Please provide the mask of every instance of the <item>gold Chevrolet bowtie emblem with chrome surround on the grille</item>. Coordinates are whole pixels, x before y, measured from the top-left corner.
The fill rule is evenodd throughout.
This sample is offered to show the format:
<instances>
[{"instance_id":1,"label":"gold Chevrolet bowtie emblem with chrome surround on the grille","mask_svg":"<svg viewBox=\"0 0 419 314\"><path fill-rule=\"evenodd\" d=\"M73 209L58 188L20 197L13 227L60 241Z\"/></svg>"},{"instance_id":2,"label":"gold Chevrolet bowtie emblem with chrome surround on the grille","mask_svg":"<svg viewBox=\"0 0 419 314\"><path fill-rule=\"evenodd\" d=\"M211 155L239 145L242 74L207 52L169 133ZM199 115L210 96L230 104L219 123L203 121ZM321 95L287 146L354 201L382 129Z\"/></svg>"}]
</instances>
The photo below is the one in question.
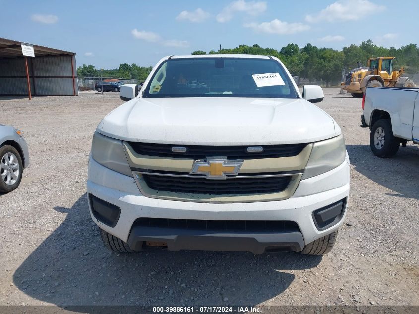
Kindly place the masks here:
<instances>
[{"instance_id":1,"label":"gold Chevrolet bowtie emblem with chrome surround on the grille","mask_svg":"<svg viewBox=\"0 0 419 314\"><path fill-rule=\"evenodd\" d=\"M207 160L195 160L193 162L191 174L206 175L207 179L226 179L226 175L237 175L242 160L227 160L217 158L207 158Z\"/></svg>"}]
</instances>

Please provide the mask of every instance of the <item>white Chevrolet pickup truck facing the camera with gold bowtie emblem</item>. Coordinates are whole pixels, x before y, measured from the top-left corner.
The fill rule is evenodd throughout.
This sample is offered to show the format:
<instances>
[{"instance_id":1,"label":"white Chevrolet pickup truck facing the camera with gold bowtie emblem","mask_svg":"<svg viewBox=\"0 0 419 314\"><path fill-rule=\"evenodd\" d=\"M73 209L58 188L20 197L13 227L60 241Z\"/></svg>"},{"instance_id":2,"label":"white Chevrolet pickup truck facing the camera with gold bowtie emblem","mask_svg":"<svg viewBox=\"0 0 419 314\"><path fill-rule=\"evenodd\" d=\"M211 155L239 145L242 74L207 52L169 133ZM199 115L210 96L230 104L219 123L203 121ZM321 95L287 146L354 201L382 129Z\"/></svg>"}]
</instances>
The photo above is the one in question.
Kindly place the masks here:
<instances>
[{"instance_id":1,"label":"white Chevrolet pickup truck facing the camera with gold bowtie emblem","mask_svg":"<svg viewBox=\"0 0 419 314\"><path fill-rule=\"evenodd\" d=\"M192 82L192 83L191 83ZM115 252L329 252L349 195L341 128L275 57L165 57L93 136L90 214Z\"/></svg>"}]
</instances>

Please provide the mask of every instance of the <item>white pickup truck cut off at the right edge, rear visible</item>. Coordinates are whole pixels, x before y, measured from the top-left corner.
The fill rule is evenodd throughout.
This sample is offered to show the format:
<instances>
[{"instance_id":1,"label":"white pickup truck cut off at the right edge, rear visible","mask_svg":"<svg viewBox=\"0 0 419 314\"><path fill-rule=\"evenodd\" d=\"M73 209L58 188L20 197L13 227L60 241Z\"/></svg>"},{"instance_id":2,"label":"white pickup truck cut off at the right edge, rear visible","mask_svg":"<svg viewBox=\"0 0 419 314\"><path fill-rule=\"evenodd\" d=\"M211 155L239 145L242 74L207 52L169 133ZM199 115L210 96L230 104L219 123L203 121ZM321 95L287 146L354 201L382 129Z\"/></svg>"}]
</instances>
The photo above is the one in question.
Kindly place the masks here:
<instances>
[{"instance_id":1,"label":"white pickup truck cut off at the right edge, rear visible","mask_svg":"<svg viewBox=\"0 0 419 314\"><path fill-rule=\"evenodd\" d=\"M394 156L400 144L419 144L419 88L367 88L362 100L362 127L378 157Z\"/></svg>"}]
</instances>

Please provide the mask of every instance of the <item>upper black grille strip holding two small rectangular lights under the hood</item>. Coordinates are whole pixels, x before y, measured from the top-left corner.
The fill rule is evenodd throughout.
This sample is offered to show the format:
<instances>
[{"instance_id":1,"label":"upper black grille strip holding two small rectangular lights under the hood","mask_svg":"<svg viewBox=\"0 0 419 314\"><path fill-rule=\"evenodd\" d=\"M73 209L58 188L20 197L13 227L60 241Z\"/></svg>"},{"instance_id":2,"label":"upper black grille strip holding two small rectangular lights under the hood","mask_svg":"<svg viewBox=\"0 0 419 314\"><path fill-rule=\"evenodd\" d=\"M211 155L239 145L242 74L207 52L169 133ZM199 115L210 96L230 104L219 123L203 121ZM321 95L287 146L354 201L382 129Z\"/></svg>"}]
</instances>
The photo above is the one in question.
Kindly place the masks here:
<instances>
[{"instance_id":1,"label":"upper black grille strip holding two small rectangular lights under the hood","mask_svg":"<svg viewBox=\"0 0 419 314\"><path fill-rule=\"evenodd\" d=\"M249 146L200 146L200 145L172 145L151 143L129 143L134 151L140 155L204 159L210 156L227 156L228 159L256 159L291 157L298 155L307 144L263 145L262 152L248 153ZM184 153L172 152L172 147L186 148ZM254 145L259 146L259 145ZM251 146L250 146L251 147Z\"/></svg>"}]
</instances>

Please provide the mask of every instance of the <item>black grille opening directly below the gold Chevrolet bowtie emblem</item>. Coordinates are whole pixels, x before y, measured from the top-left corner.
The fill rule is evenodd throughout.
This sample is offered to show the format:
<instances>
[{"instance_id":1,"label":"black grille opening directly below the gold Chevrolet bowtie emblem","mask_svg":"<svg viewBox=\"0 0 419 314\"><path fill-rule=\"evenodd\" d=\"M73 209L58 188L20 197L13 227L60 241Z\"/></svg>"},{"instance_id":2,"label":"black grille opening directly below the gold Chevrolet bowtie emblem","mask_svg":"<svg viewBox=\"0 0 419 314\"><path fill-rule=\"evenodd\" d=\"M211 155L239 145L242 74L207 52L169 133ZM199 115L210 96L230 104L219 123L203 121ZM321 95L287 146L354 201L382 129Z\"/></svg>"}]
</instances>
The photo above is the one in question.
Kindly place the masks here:
<instances>
[{"instance_id":1,"label":"black grille opening directly below the gold Chevrolet bowtie emblem","mask_svg":"<svg viewBox=\"0 0 419 314\"><path fill-rule=\"evenodd\" d=\"M291 176L226 180L156 175L143 178L150 188L158 191L210 195L277 193L285 190L291 180Z\"/></svg>"}]
</instances>

